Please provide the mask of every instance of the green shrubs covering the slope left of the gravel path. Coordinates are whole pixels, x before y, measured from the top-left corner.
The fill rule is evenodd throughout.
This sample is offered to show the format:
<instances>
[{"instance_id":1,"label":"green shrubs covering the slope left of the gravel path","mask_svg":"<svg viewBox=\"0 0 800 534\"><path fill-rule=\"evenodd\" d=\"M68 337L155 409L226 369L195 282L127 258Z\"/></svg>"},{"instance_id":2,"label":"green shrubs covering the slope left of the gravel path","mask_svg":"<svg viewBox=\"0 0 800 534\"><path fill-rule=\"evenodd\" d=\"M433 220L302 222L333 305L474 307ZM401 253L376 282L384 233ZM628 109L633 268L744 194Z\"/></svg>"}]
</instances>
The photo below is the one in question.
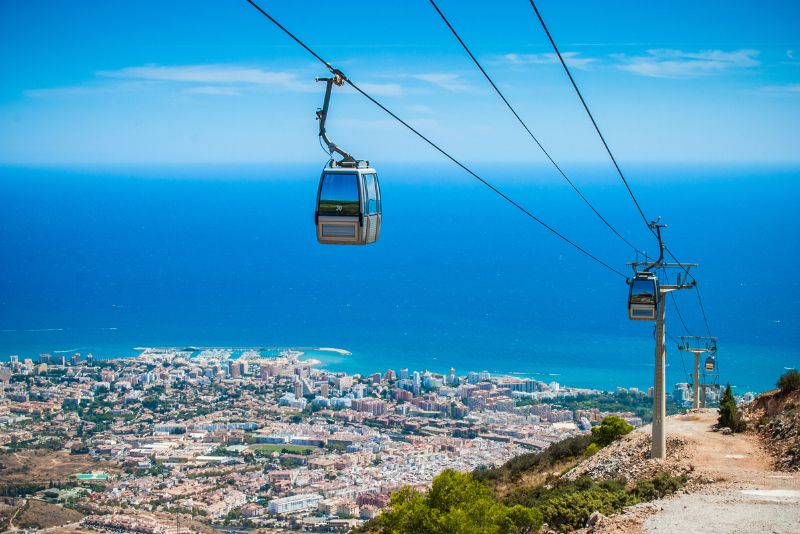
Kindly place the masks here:
<instances>
[{"instance_id":1,"label":"green shrubs covering the slope left of the gravel path","mask_svg":"<svg viewBox=\"0 0 800 534\"><path fill-rule=\"evenodd\" d=\"M570 532L582 528L594 512L612 515L626 506L660 499L679 490L686 477L658 473L635 484L625 479L595 481L588 476L570 481L554 468L574 465L613 443L633 427L619 417L607 417L592 435L554 443L542 452L512 458L496 469L472 475L445 471L428 492L410 488L392 495L388 508L365 524L361 532ZM526 481L536 480L536 483Z\"/></svg>"}]
</instances>

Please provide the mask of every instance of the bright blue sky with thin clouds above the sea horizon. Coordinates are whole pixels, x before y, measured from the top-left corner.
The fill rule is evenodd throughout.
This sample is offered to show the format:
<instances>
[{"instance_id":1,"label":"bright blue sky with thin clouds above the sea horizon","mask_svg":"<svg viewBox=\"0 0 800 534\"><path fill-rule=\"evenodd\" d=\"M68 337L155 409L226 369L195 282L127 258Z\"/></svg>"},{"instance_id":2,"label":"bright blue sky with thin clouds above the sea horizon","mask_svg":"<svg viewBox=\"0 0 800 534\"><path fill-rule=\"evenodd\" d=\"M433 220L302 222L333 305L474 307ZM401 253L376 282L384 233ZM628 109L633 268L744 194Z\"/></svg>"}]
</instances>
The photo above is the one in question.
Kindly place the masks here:
<instances>
[{"instance_id":1,"label":"bright blue sky with thin clouds above the sea horizon","mask_svg":"<svg viewBox=\"0 0 800 534\"><path fill-rule=\"evenodd\" d=\"M427 1L263 6L457 156L543 161ZM605 161L526 0L439 6L558 161ZM620 160L800 159L797 2L539 7ZM0 50L0 163L325 159L326 72L244 0L3 2ZM356 156L440 160L359 95L333 106Z\"/></svg>"}]
</instances>

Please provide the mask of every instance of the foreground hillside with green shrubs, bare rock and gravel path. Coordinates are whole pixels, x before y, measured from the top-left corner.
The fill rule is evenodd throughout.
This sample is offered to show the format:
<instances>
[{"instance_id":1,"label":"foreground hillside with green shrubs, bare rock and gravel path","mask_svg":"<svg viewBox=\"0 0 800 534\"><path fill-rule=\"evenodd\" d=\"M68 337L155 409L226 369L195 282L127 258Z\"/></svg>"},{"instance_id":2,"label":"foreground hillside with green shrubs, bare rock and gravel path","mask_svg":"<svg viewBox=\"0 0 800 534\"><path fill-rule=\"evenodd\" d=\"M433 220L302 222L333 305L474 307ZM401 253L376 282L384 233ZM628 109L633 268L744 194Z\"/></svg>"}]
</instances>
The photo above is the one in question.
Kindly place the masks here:
<instances>
[{"instance_id":1,"label":"foreground hillside with green shrubs, bare rock and gravel path","mask_svg":"<svg viewBox=\"0 0 800 534\"><path fill-rule=\"evenodd\" d=\"M627 433L608 418L605 437L596 427L496 469L445 472L427 492L400 492L362 531L797 533L798 405L800 391L761 395L741 410L743 433L718 430L717 410L670 416L663 460L649 458L649 426Z\"/></svg>"}]
</instances>

